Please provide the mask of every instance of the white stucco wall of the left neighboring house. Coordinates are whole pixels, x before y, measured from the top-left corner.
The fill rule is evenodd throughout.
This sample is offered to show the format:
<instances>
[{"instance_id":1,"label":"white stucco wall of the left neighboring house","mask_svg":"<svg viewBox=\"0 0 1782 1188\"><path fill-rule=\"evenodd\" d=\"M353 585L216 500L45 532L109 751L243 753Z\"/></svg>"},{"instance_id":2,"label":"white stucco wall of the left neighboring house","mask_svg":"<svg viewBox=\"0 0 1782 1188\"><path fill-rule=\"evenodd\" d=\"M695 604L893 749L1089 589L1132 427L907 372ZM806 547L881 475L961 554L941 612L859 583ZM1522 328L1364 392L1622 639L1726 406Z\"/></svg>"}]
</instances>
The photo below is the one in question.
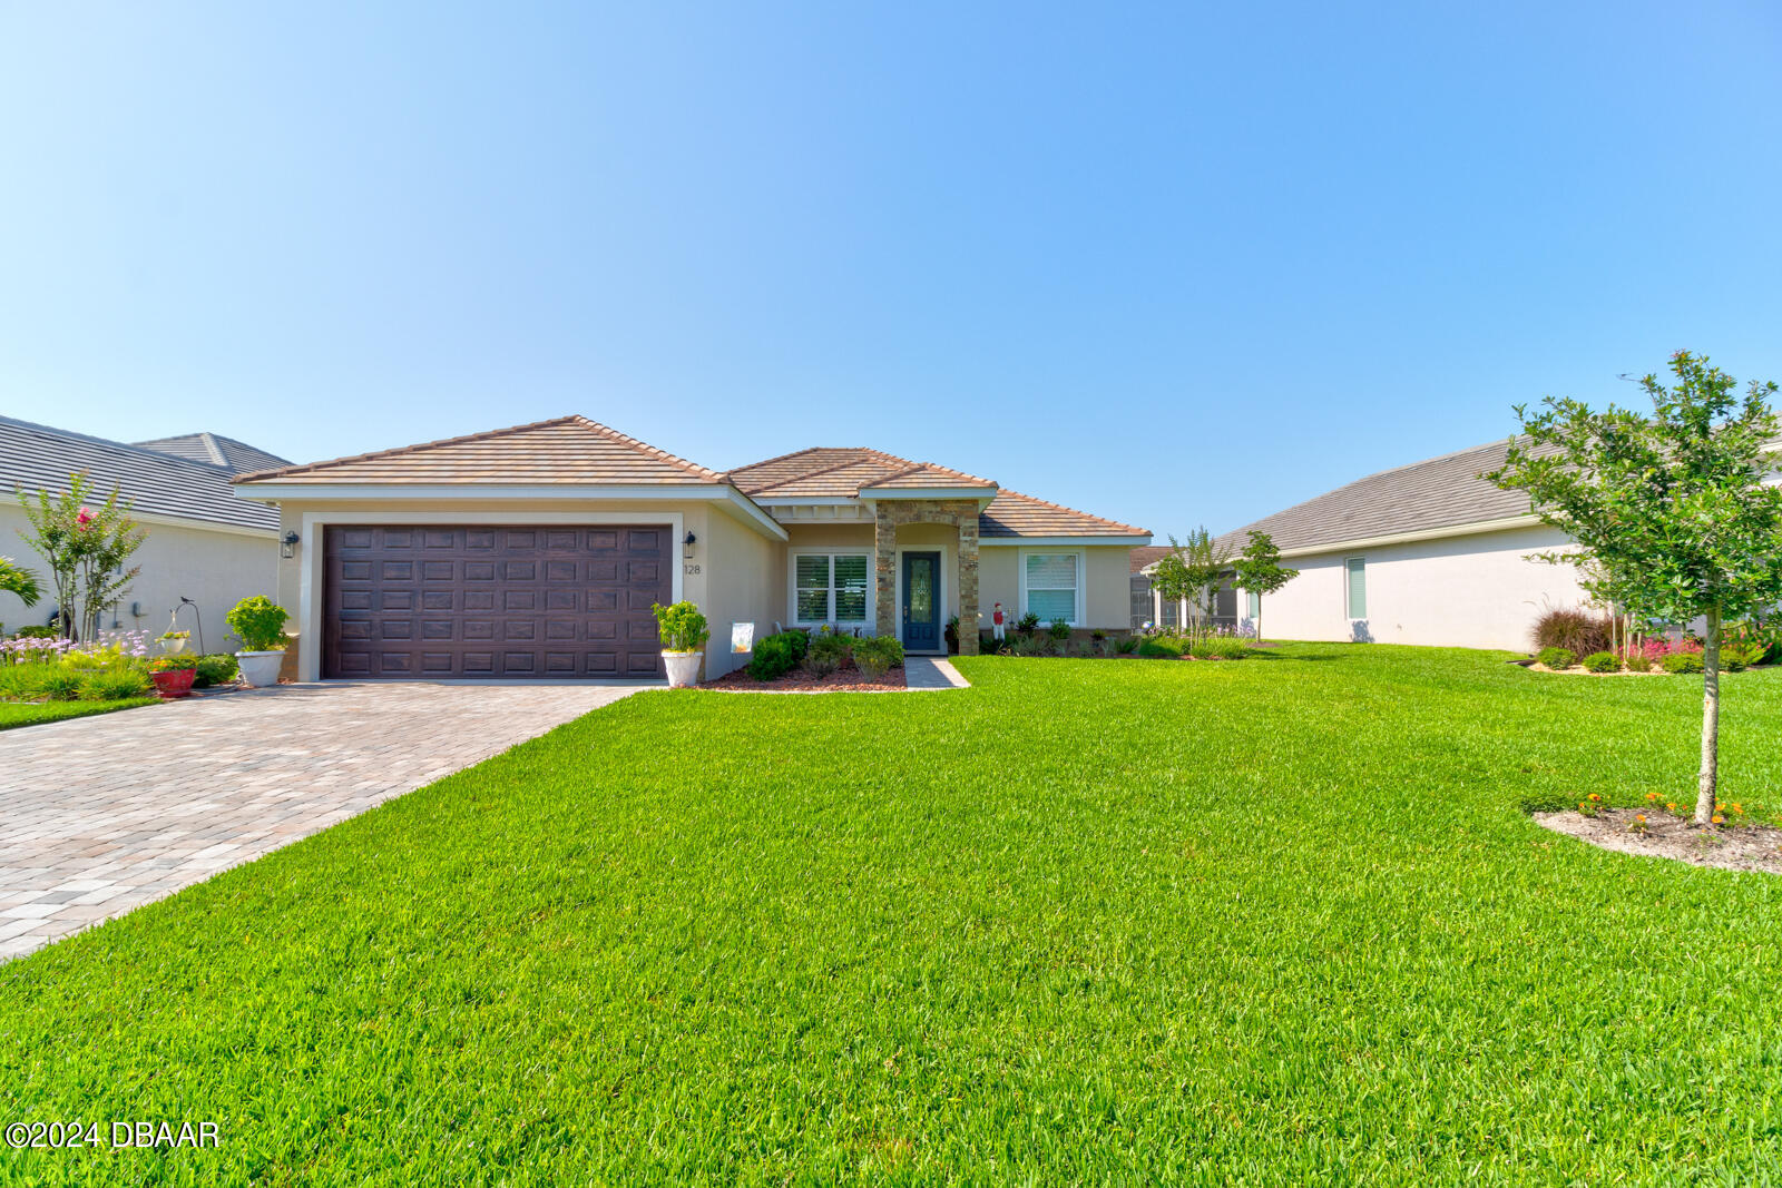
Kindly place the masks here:
<instances>
[{"instance_id":1,"label":"white stucco wall of the left neighboring house","mask_svg":"<svg viewBox=\"0 0 1782 1188\"><path fill-rule=\"evenodd\" d=\"M249 595L273 595L278 586L278 538L267 531L203 525L189 520L182 525L144 524L148 540L135 550L130 563L143 572L132 582L123 602L105 616L103 627L144 629L160 634L168 629L173 607L180 597L198 602L203 616L203 645L212 652L233 647L223 616L232 606ZM25 513L16 506L0 504L0 556L36 570L45 586L45 600L25 607L18 597L0 593L0 623L14 631L27 623L48 622L53 607L48 595L48 570L23 536L30 533ZM191 648L198 648L198 622L191 607L180 611L178 627L192 632Z\"/></svg>"}]
</instances>

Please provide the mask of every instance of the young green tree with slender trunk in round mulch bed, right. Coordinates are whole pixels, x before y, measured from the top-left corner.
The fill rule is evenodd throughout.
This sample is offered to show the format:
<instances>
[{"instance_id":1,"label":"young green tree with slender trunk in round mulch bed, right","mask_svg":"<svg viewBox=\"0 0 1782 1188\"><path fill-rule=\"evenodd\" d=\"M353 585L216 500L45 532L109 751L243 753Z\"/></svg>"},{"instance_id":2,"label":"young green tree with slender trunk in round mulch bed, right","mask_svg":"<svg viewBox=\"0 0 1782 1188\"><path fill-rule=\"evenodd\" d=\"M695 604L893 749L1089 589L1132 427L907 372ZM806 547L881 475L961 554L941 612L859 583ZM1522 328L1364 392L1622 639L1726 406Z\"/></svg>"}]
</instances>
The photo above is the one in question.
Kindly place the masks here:
<instances>
[{"instance_id":1,"label":"young green tree with slender trunk in round mulch bed, right","mask_svg":"<svg viewBox=\"0 0 1782 1188\"><path fill-rule=\"evenodd\" d=\"M1705 622L1702 769L1695 819L1716 812L1720 636L1729 618L1782 600L1782 490L1764 483L1778 422L1775 383L1737 381L1705 356L1679 351L1675 383L1645 376L1652 415L1609 404L1593 411L1547 397L1516 406L1524 438L1486 477L1529 493L1540 518L1575 540L1597 584L1643 618ZM1536 554L1579 563L1575 552Z\"/></svg>"}]
</instances>

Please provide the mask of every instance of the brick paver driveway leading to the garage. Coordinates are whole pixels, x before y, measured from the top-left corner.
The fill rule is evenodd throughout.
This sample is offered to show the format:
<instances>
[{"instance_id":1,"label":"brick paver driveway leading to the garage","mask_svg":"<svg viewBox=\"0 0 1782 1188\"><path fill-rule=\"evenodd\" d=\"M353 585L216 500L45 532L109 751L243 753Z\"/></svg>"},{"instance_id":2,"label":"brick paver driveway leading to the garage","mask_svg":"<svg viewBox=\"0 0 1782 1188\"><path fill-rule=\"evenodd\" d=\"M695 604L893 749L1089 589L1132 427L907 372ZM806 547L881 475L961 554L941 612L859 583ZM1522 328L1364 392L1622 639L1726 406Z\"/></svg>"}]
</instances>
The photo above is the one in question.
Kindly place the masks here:
<instances>
[{"instance_id":1,"label":"brick paver driveway leading to the garage","mask_svg":"<svg viewBox=\"0 0 1782 1188\"><path fill-rule=\"evenodd\" d=\"M298 684L0 732L0 960L640 688Z\"/></svg>"}]
</instances>

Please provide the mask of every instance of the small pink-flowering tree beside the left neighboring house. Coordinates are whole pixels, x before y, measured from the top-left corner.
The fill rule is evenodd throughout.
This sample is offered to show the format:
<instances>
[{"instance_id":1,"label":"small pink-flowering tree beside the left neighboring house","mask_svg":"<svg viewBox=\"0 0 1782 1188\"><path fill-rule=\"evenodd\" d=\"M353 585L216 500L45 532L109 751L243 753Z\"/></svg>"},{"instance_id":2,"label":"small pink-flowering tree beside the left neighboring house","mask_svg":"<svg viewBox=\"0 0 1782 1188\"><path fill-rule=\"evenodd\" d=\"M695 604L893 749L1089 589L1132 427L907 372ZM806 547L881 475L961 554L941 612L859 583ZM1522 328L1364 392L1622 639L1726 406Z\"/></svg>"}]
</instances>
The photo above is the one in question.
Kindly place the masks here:
<instances>
[{"instance_id":1,"label":"small pink-flowering tree beside the left neighboring house","mask_svg":"<svg viewBox=\"0 0 1782 1188\"><path fill-rule=\"evenodd\" d=\"M103 504L87 504L87 474L68 476L68 490L52 495L18 492L18 502L30 520L25 541L50 566L62 634L93 639L100 618L118 606L143 566L125 568L148 533L130 518L130 500L114 486Z\"/></svg>"}]
</instances>

